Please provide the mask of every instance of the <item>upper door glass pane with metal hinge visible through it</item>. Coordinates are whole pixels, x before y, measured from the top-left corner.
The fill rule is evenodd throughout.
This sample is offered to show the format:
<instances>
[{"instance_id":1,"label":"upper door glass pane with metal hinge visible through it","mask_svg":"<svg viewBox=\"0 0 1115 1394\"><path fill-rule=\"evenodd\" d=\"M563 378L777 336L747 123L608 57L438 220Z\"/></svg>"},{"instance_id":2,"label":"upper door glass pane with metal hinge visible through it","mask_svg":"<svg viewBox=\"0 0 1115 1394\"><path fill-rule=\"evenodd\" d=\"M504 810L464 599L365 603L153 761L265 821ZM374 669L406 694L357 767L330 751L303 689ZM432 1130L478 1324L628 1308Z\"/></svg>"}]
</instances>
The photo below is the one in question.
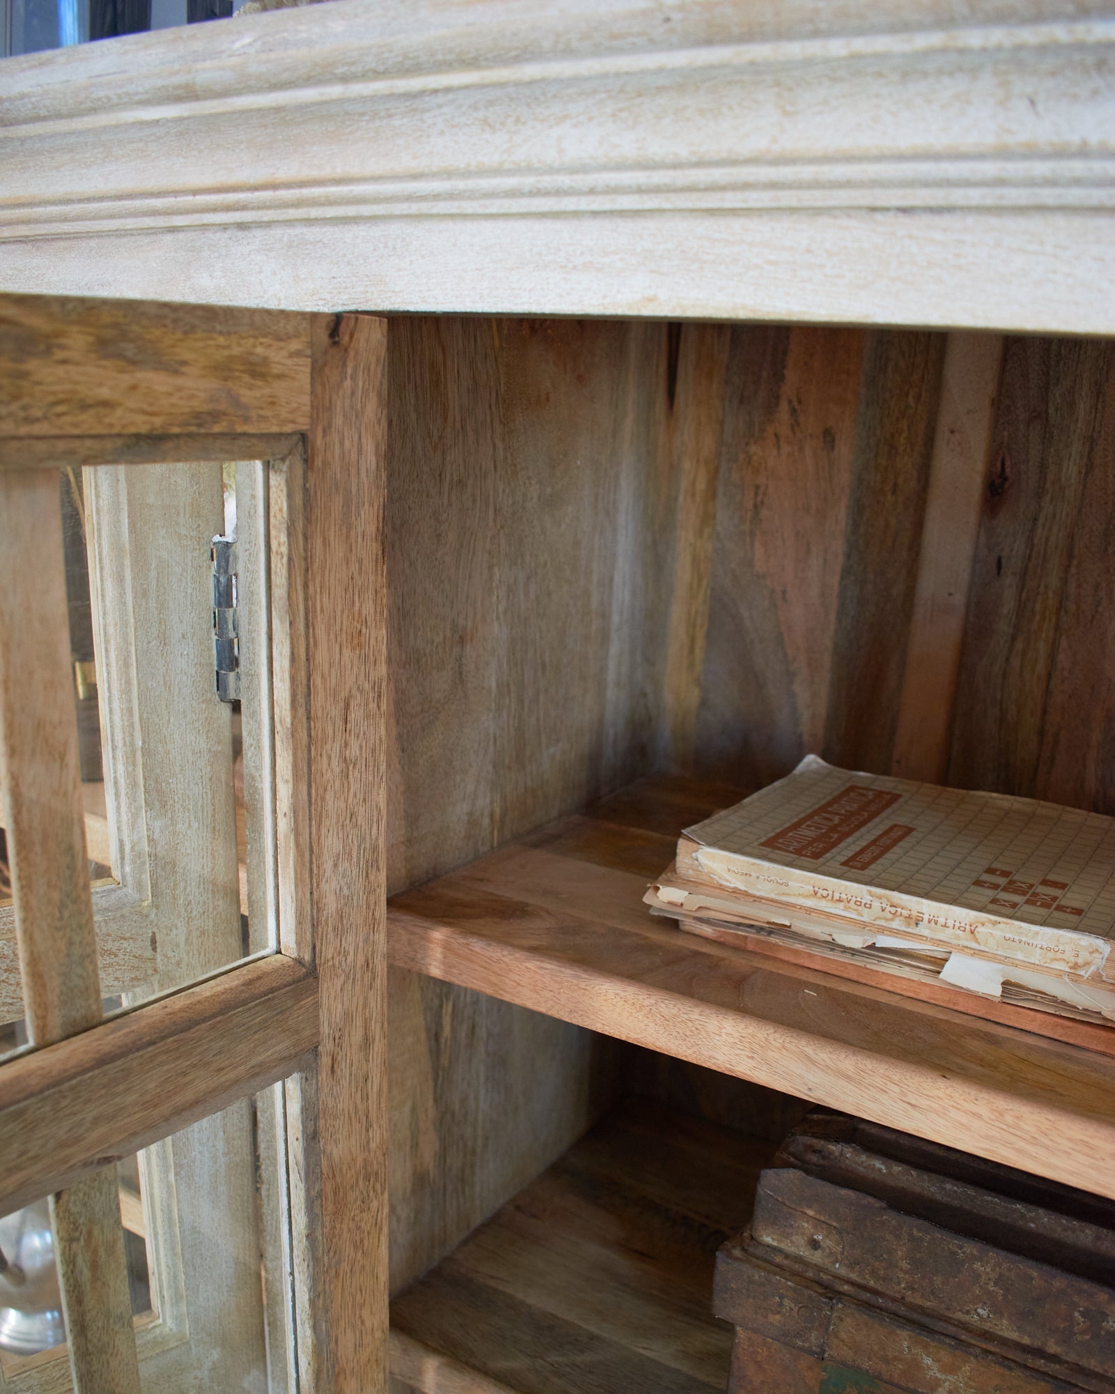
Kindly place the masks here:
<instances>
[{"instance_id":1,"label":"upper door glass pane with metal hinge visible through it","mask_svg":"<svg viewBox=\"0 0 1115 1394\"><path fill-rule=\"evenodd\" d=\"M265 484L258 461L85 470L109 855L127 892L98 947L125 1005L273 947Z\"/></svg>"}]
</instances>

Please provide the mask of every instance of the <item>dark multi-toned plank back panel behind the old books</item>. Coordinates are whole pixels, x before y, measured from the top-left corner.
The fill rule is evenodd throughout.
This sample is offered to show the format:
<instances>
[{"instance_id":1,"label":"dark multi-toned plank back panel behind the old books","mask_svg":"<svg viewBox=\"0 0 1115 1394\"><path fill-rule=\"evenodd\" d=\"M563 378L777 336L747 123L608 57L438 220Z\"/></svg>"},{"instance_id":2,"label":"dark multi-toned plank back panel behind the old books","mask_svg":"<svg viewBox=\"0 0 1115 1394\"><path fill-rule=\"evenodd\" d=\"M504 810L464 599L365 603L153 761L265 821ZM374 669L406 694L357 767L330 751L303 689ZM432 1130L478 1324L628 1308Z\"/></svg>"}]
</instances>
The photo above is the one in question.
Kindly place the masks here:
<instances>
[{"instance_id":1,"label":"dark multi-toned plank back panel behind the old books","mask_svg":"<svg viewBox=\"0 0 1115 1394\"><path fill-rule=\"evenodd\" d=\"M691 743L666 742L675 768L760 785L817 751L1115 811L1115 347L1008 340L980 436L971 400L942 429L949 337L730 332L697 718ZM953 337L976 371L994 362L991 342ZM966 421L980 480L958 502ZM934 595L945 563L966 602L951 577ZM941 728L938 764L910 756L921 722Z\"/></svg>"}]
</instances>

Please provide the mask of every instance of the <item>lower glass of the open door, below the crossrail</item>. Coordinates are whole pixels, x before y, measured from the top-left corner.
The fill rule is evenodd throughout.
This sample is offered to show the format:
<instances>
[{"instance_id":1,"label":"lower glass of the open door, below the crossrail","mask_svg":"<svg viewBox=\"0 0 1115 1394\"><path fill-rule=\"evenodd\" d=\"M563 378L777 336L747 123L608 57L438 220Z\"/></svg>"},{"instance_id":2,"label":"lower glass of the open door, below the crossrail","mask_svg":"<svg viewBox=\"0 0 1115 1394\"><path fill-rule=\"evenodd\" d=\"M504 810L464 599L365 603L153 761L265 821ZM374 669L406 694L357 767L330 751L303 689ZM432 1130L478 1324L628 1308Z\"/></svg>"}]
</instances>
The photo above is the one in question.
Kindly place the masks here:
<instances>
[{"instance_id":1,"label":"lower glass of the open door, below the crossrail","mask_svg":"<svg viewBox=\"0 0 1115 1394\"><path fill-rule=\"evenodd\" d=\"M290 1387L289 1284L268 1243L282 1224L275 1098L241 1100L117 1167L145 1394ZM46 1199L0 1220L0 1384L70 1388Z\"/></svg>"}]
</instances>

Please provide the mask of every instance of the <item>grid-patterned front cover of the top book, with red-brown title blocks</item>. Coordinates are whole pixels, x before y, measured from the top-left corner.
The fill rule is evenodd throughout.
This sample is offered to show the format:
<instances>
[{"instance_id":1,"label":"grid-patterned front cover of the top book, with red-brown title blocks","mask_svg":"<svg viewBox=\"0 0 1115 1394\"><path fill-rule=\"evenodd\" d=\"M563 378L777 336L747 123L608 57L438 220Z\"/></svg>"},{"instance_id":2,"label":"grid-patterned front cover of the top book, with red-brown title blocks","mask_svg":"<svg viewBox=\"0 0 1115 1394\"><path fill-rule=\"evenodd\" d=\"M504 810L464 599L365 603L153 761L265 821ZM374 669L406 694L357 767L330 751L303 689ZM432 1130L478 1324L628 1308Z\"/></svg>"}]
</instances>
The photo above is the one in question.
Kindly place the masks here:
<instances>
[{"instance_id":1,"label":"grid-patterned front cover of the top book, with red-brown title blocks","mask_svg":"<svg viewBox=\"0 0 1115 1394\"><path fill-rule=\"evenodd\" d=\"M1002 919L1109 937L1115 818L853 774L815 756L687 829L709 848Z\"/></svg>"}]
</instances>

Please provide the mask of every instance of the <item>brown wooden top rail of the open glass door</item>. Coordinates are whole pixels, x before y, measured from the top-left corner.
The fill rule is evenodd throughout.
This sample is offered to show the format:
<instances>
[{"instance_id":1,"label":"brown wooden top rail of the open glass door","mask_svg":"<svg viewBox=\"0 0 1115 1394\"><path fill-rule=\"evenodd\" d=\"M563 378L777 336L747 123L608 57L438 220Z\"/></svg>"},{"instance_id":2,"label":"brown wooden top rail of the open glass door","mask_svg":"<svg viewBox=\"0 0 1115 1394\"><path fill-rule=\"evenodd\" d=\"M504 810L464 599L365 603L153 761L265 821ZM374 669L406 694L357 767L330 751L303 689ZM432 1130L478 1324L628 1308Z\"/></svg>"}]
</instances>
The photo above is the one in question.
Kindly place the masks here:
<instances>
[{"instance_id":1,"label":"brown wooden top rail of the open glass door","mask_svg":"<svg viewBox=\"0 0 1115 1394\"><path fill-rule=\"evenodd\" d=\"M302 431L304 315L6 296L7 436Z\"/></svg>"}]
</instances>

